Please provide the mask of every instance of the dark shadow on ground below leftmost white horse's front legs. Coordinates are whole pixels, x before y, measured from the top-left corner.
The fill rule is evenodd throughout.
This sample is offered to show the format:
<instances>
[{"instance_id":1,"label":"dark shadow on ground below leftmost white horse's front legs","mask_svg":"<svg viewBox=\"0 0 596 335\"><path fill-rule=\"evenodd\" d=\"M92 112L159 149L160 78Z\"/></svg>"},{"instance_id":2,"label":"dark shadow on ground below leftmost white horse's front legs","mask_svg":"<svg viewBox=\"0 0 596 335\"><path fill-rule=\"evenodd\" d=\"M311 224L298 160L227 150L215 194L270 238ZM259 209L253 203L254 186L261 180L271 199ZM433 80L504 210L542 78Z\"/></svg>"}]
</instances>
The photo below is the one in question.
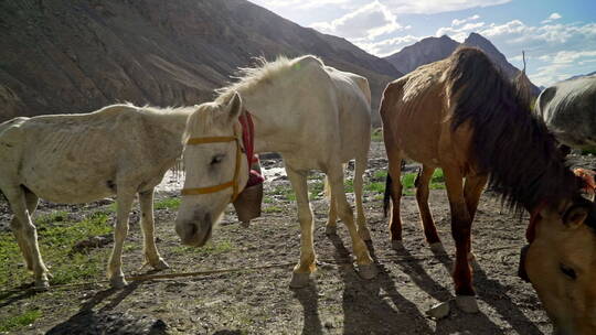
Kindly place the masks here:
<instances>
[{"instance_id":1,"label":"dark shadow on ground below leftmost white horse's front legs","mask_svg":"<svg viewBox=\"0 0 596 335\"><path fill-rule=\"evenodd\" d=\"M92 299L82 304L78 313L57 324L46 334L167 334L168 326L161 320L149 316L138 317L128 313L113 311L128 295L135 292L141 283L141 281L135 281L121 290L108 289L97 292ZM95 310L96 306L110 296L111 300L108 303Z\"/></svg>"}]
</instances>

